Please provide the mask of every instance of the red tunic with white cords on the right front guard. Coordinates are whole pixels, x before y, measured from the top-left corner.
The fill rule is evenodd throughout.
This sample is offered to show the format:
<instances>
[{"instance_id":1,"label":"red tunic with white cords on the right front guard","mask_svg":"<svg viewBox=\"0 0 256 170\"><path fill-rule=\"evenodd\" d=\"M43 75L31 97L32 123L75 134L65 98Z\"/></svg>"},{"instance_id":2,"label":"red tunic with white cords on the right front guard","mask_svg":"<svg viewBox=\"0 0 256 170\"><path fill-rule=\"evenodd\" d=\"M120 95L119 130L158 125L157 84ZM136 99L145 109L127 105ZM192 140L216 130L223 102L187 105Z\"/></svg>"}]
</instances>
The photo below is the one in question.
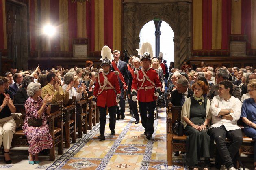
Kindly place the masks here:
<instances>
[{"instance_id":1,"label":"red tunic with white cords on the right front guard","mask_svg":"<svg viewBox=\"0 0 256 170\"><path fill-rule=\"evenodd\" d=\"M156 96L154 96L155 87L157 89L161 89L162 85L159 80L159 76L153 68L149 68L149 70L145 71L145 75L156 85L154 86L146 77L144 77L144 74L142 72L141 68L138 70L137 74L134 74L134 78L132 80L132 90L137 91L137 99L140 102L152 102L156 101ZM144 78L143 78L144 77ZM144 79L144 83L143 83ZM142 80L142 81L141 81ZM143 85L142 85L143 83ZM142 85L142 86L141 86ZM141 89L140 89L141 87Z\"/></svg>"}]
</instances>

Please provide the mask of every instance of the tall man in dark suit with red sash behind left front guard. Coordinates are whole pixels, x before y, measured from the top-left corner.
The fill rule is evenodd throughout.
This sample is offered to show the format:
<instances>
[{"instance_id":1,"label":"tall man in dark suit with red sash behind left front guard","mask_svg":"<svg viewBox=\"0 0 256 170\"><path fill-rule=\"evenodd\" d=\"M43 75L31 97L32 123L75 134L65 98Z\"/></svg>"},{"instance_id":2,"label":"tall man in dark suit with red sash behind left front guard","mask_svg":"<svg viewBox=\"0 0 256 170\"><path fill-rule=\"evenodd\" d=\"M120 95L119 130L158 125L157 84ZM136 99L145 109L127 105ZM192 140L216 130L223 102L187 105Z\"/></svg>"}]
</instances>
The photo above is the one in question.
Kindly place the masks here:
<instances>
[{"instance_id":1,"label":"tall man in dark suit with red sash behind left front guard","mask_svg":"<svg viewBox=\"0 0 256 170\"><path fill-rule=\"evenodd\" d=\"M119 102L120 109L119 107L117 107L117 118L116 118L117 120L119 120L119 119L124 119L124 111L125 111L124 90L127 89L129 85L129 71L127 68L127 63L119 59L120 51L114 50L113 55L114 55L114 61L112 62L113 67L111 67L111 70L119 72L118 81L119 81L120 90L121 90L121 98Z\"/></svg>"}]
</instances>

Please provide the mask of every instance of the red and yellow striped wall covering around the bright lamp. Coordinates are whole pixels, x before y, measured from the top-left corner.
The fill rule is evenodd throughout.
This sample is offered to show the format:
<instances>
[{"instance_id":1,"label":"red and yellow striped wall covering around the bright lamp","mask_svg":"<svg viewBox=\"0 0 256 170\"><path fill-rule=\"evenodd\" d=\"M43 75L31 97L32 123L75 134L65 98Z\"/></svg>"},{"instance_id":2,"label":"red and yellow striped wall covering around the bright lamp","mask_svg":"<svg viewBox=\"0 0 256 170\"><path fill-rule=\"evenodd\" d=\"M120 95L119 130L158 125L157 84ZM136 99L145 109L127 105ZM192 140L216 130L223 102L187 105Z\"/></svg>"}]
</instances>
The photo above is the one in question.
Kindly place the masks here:
<instances>
[{"instance_id":1,"label":"red and yellow striped wall covering around the bright lamp","mask_svg":"<svg viewBox=\"0 0 256 170\"><path fill-rule=\"evenodd\" d=\"M72 3L71 0L30 0L31 51L37 50L40 38L43 51L72 52L74 38L88 38L89 51L100 51L104 45L112 50L121 50L121 5L120 0L91 0L83 3ZM38 13L41 21L38 21ZM57 35L50 39L50 47L48 37L41 34L41 28L47 23L57 28Z\"/></svg>"}]
</instances>

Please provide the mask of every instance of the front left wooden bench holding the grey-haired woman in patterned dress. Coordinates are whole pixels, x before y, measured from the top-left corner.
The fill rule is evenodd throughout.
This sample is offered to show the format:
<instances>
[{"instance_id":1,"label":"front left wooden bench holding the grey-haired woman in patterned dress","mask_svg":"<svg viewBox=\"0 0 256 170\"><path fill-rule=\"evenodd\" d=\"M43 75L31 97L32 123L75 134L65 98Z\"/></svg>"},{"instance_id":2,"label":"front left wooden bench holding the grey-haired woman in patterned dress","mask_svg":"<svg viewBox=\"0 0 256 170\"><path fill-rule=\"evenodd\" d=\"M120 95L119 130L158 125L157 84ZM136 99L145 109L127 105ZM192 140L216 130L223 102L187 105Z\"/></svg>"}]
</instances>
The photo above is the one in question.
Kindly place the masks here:
<instances>
[{"instance_id":1,"label":"front left wooden bench holding the grey-haired woman in patterned dress","mask_svg":"<svg viewBox=\"0 0 256 170\"><path fill-rule=\"evenodd\" d=\"M23 120L25 118L24 104L15 104L17 113L22 113ZM55 160L55 146L58 145L58 154L63 154L63 126L62 126L62 105L52 105L51 113L46 116L47 123L49 124L49 133L53 139L53 148L50 149L50 161ZM60 123L58 123L60 122ZM56 125L58 124L58 125ZM12 147L29 146L28 140L22 129L16 130L13 134Z\"/></svg>"}]
</instances>

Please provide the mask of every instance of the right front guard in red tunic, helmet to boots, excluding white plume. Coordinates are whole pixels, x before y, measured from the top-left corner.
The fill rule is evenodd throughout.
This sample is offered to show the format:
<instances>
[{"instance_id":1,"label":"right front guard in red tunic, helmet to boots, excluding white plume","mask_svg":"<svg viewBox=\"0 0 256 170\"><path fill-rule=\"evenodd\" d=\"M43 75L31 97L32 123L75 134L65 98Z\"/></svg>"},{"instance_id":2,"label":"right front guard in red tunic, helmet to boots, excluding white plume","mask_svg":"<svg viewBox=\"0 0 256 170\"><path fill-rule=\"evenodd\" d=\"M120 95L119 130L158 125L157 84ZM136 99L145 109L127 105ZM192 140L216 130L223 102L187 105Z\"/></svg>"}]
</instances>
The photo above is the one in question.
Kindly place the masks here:
<instances>
[{"instance_id":1,"label":"right front guard in red tunic, helmet to boots, excluding white plume","mask_svg":"<svg viewBox=\"0 0 256 170\"><path fill-rule=\"evenodd\" d=\"M156 97L161 91L159 76L153 68L150 68L151 57L144 53L141 57L143 68L134 72L132 81L132 100L139 102L141 124L145 128L144 134L150 140L154 132L154 110Z\"/></svg>"}]
</instances>

